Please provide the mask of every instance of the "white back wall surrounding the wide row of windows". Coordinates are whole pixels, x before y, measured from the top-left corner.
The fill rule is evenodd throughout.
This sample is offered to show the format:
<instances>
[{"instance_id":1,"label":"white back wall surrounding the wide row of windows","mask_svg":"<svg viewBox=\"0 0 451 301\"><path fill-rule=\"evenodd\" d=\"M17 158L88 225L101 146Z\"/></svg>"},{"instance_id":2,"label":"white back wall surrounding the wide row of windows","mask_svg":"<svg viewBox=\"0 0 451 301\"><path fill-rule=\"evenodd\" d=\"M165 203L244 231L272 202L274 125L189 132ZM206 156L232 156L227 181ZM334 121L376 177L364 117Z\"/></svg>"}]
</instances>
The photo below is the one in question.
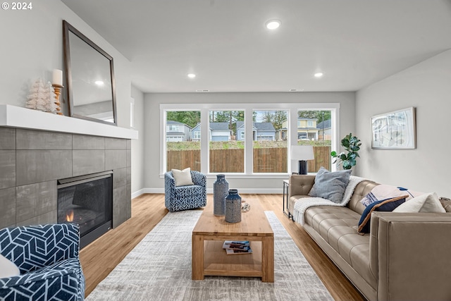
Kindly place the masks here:
<instances>
[{"instance_id":1,"label":"white back wall surrounding the wide row of windows","mask_svg":"<svg viewBox=\"0 0 451 301\"><path fill-rule=\"evenodd\" d=\"M160 160L160 104L230 104L230 103L340 103L340 134L354 133L354 92L302 92L302 93L149 93L144 94L144 190L163 192L164 179L159 174ZM227 177L226 177L227 178ZM276 179L275 179L276 178ZM279 177L280 178L280 177ZM256 176L230 178L229 187L242 192L282 192L282 178ZM285 176L283 178L288 178ZM212 188L215 176L207 178L207 188Z\"/></svg>"}]
</instances>

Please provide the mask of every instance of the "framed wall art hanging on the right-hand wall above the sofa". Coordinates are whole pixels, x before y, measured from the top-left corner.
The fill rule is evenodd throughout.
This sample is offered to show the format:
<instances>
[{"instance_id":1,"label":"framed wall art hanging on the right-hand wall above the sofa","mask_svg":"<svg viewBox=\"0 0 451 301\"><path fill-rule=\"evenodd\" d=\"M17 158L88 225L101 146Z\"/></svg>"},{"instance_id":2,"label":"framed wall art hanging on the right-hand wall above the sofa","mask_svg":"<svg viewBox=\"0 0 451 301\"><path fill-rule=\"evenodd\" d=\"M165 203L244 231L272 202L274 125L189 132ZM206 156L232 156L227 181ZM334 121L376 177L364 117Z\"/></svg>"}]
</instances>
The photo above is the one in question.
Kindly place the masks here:
<instances>
[{"instance_id":1,"label":"framed wall art hanging on the right-hand wall above the sofa","mask_svg":"<svg viewBox=\"0 0 451 301\"><path fill-rule=\"evenodd\" d=\"M414 149L415 108L412 106L371 117L373 149Z\"/></svg>"}]
</instances>

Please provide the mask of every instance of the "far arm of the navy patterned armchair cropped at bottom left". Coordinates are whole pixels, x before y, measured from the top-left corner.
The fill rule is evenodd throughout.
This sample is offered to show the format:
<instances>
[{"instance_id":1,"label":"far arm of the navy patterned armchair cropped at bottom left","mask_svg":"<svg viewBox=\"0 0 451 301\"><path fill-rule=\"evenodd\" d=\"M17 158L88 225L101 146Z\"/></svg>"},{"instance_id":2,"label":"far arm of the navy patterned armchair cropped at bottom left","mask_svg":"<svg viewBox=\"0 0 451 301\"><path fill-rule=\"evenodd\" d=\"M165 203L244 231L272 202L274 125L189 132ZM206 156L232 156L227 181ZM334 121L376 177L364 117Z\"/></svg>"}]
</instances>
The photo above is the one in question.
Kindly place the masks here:
<instances>
[{"instance_id":1,"label":"far arm of the navy patterned armchair cropped at bottom left","mask_svg":"<svg viewBox=\"0 0 451 301\"><path fill-rule=\"evenodd\" d=\"M22 226L0 230L0 253L20 269L20 274L77 258L80 229L75 223Z\"/></svg>"}]
</instances>

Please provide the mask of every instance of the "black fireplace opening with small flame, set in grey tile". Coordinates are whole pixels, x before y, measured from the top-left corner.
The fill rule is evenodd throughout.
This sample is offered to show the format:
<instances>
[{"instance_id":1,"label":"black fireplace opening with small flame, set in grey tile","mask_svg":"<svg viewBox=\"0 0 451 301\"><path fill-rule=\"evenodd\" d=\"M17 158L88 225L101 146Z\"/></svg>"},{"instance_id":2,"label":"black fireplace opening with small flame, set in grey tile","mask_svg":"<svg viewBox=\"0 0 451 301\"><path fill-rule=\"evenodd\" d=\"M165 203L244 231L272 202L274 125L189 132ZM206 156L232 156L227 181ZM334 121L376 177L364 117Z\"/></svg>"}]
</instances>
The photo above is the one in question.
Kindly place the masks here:
<instances>
[{"instance_id":1,"label":"black fireplace opening with small flame, set in grey tile","mask_svg":"<svg viewBox=\"0 0 451 301\"><path fill-rule=\"evenodd\" d=\"M58 180L58 223L80 226L80 248L112 227L112 171Z\"/></svg>"}]
</instances>

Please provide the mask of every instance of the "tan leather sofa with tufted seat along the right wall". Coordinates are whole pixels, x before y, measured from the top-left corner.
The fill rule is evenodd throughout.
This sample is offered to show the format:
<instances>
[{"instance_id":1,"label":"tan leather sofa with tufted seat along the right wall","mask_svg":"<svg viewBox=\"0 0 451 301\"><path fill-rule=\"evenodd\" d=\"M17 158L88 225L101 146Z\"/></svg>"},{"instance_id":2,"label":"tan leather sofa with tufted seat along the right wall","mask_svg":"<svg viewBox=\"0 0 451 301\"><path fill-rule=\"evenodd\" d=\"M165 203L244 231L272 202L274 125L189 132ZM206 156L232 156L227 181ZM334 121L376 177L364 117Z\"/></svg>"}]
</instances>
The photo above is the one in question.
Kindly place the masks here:
<instances>
[{"instance_id":1,"label":"tan leather sofa with tufted seat along the right wall","mask_svg":"<svg viewBox=\"0 0 451 301\"><path fill-rule=\"evenodd\" d=\"M290 176L291 214L314 180ZM449 199L440 199L446 213L373 212L370 233L361 235L359 201L376 185L360 182L346 207L310 207L305 231L368 300L451 300Z\"/></svg>"}]
</instances>

